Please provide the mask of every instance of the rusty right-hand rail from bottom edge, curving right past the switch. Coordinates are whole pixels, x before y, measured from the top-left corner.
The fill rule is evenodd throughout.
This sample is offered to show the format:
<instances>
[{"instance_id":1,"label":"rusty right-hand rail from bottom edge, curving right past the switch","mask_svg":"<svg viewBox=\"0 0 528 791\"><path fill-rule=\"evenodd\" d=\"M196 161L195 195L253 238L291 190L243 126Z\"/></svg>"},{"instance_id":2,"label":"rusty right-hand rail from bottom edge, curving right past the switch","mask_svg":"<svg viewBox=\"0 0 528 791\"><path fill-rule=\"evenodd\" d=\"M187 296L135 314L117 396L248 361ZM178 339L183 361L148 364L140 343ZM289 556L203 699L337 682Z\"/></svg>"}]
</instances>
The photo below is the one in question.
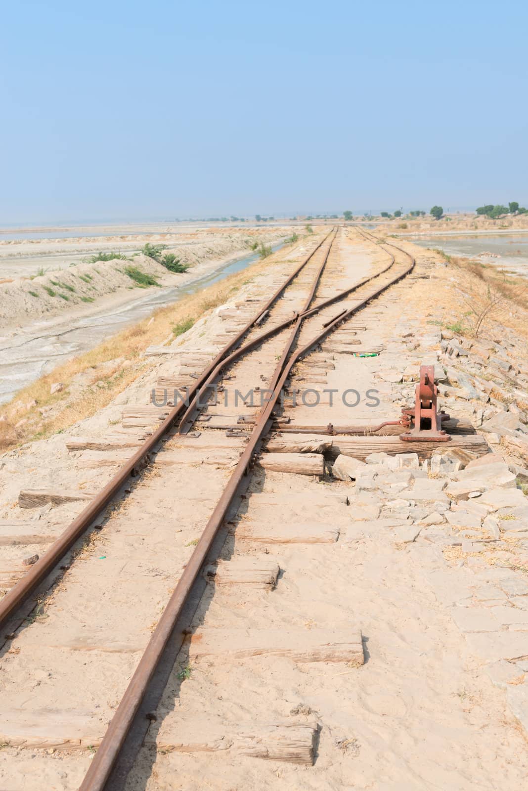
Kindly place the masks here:
<instances>
[{"instance_id":1,"label":"rusty right-hand rail from bottom edge, curving right past the switch","mask_svg":"<svg viewBox=\"0 0 528 791\"><path fill-rule=\"evenodd\" d=\"M396 247L396 245L390 246ZM349 308L344 314L337 316L332 324L324 327L315 338L311 339L309 343L297 350L295 354L292 354L289 361L285 362L285 355L283 354L281 360L278 362L275 372L273 373L273 380L276 381L276 385L273 388L273 396L258 415L258 420L255 424L255 428L251 432L250 439L232 472L231 478L228 480L220 500L217 502L211 517L209 517L206 527L202 532L202 536L198 539L198 544L194 548L193 554L191 554L189 562L187 562L187 566L183 570L182 576L179 578L178 584L172 592L172 596L157 623L156 629L145 649L145 653L143 653L138 667L134 672L134 676L130 679L125 694L123 694L123 698L118 708L115 710L114 717L112 717L110 725L108 725L107 732L89 766L89 770L79 786L79 791L104 791L107 779L118 758L119 751L121 747L123 747L126 735L130 730L134 717L141 705L141 701L145 696L153 673L160 662L160 658L183 609L183 605L187 600L187 596L189 596L190 590L206 560L207 554L213 544L213 539L221 528L221 524L228 513L229 506L236 496L236 492L239 489L240 483L243 481L244 475L247 473L248 467L251 465L251 461L253 460L255 452L257 452L262 437L270 430L273 409L277 405L277 400L281 395L281 390L284 387L285 380L289 376L293 365L295 365L304 354L308 354L316 344L322 341L322 339L326 338L326 335L330 335L339 324L349 319L354 313L364 308L368 302L379 297L379 295L390 288L390 286L394 286L395 283L399 282L413 271L415 266L413 256L405 250L402 250L402 248L396 249L407 255L410 259L410 263L405 267L404 271L394 276L394 278L391 278L389 282L379 286L378 289L372 291L367 297L360 301L358 305L354 305L353 308ZM369 279L375 279L375 277L376 275L374 278ZM305 315L311 315L311 311L308 311ZM296 327L300 327L303 319L304 316L299 317L296 321ZM288 343L290 349L296 339L296 334L296 332L292 332L292 335L289 337Z\"/></svg>"}]
</instances>

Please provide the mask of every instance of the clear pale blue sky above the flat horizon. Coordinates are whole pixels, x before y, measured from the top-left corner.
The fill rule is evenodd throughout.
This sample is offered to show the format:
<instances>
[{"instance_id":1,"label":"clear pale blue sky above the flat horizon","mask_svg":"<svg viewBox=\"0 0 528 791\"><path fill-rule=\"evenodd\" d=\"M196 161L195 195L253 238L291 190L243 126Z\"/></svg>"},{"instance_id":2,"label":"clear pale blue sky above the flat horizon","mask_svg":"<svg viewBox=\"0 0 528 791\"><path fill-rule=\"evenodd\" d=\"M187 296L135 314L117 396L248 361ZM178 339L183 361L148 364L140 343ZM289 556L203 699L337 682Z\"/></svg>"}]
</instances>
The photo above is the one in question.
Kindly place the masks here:
<instances>
[{"instance_id":1,"label":"clear pale blue sky above the flat horizon","mask_svg":"<svg viewBox=\"0 0 528 791\"><path fill-rule=\"evenodd\" d=\"M0 223L528 202L528 6L2 6Z\"/></svg>"}]
</instances>

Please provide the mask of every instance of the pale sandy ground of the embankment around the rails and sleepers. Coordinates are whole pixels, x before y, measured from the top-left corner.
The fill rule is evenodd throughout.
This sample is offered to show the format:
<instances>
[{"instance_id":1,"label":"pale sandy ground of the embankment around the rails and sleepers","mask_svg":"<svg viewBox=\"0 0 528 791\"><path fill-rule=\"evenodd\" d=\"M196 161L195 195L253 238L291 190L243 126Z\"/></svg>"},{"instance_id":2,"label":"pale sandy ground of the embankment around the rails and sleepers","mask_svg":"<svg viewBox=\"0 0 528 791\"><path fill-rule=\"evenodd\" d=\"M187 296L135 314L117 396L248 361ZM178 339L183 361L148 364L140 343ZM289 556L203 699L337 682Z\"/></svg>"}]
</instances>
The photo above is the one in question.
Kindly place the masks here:
<instances>
[{"instance_id":1,"label":"pale sandy ground of the embankment around the rails and sleepers","mask_svg":"<svg viewBox=\"0 0 528 791\"><path fill-rule=\"evenodd\" d=\"M21 509L18 492L36 487L91 492L103 486L113 468L101 464L101 453L94 457L89 451L67 451L65 442L107 438L110 433L141 436L148 430L145 422L141 428L141 418L126 415L148 406L160 377L184 380L186 372L203 367L214 348L258 312L258 300L269 296L310 244L304 240L287 261L274 255L268 271L173 347L160 350L141 377L96 416L2 457L0 519L6 536L13 529L8 522L43 536L40 543L2 546L6 576L16 577L21 559L41 553L46 536L56 536L81 509L78 502ZM286 414L297 425L394 419L413 397L420 363L434 361L443 372L443 404L450 413L484 426L480 430L494 450L511 450L511 443L522 440L526 431L526 339L515 332L524 314L495 317L486 328L485 337L502 368L488 360L478 369L478 354L471 349L447 359L445 344L455 343L450 341L454 333L441 327L458 316L464 276L443 266L438 256L403 244L417 255L413 277L350 322L356 326L352 340L360 341L357 348L376 348L379 356L354 358L346 348L350 336L344 328L336 335L341 350L317 350L311 355L313 365L296 370L313 389L335 386L363 394L375 388L379 405L369 407L361 398L354 408L342 403L330 408L322 400L318 407L287 408ZM404 260L397 255L397 265ZM316 264L292 284L268 322L299 309ZM318 297L386 265L383 248L352 229L341 232ZM357 298L359 293L345 304L353 305ZM337 312L333 306L318 321ZM316 326L314 322L304 334ZM283 341L277 336L236 365L232 374L237 387L246 392L255 380L266 381ZM512 364L517 391L508 377ZM483 389L488 383L491 396ZM501 391L507 393L503 400ZM236 417L241 407L230 409L221 403L209 412L212 420ZM244 409L251 414L251 407ZM124 422L138 422L135 429L119 425L123 412ZM516 416L518 425L501 429L504 415L512 419L510 426ZM493 419L499 422L490 431L485 424ZM172 463L165 467L160 454L141 486L116 509L108 509L104 531L82 548L35 617L8 643L0 681L6 713L0 780L9 782L9 789L78 787L228 479L240 441L227 440L224 432L205 426L194 450L192 438L170 440L164 453ZM497 516L493 507L500 498L508 504L508 497L522 501L522 490L511 483L515 475L508 479L503 464L506 473L501 467L492 483L481 486L479 497L458 507L456 498L443 494L443 488L456 483L453 467L431 478L418 460L402 462L399 471L390 470L383 459L373 461L348 481L255 469L251 496L229 530L221 559L227 564L272 562L281 572L275 585L221 585L221 575L217 584L209 585L192 624L201 638L179 656L128 791L513 791L526 784L528 584L523 569L528 552L523 532L528 518L524 505L503 508L520 507L519 517ZM510 464L514 462L520 465L522 458L510 456ZM496 486L499 494L490 494ZM495 521L486 523L490 516ZM277 540L277 531L280 536L282 528L295 524L325 535L330 528L336 536L323 543ZM491 524L496 533L490 533ZM267 529L268 538L255 539L255 529ZM352 644L360 632L364 664L351 666L338 645L347 640ZM246 645L248 635L254 639L250 653L236 655L234 647ZM285 635L308 660L270 655ZM201 643L208 639L212 647L201 653ZM310 653L314 643L327 646L323 660ZM255 645L265 647L268 655L256 652ZM79 677L86 679L83 685ZM298 758L299 745L294 747L287 736L292 724L301 747L304 730L313 734L313 766L309 761L292 763L291 756L278 760L276 753L266 761L251 757L262 755L258 745L270 748L272 726L281 729L281 744Z\"/></svg>"}]
</instances>

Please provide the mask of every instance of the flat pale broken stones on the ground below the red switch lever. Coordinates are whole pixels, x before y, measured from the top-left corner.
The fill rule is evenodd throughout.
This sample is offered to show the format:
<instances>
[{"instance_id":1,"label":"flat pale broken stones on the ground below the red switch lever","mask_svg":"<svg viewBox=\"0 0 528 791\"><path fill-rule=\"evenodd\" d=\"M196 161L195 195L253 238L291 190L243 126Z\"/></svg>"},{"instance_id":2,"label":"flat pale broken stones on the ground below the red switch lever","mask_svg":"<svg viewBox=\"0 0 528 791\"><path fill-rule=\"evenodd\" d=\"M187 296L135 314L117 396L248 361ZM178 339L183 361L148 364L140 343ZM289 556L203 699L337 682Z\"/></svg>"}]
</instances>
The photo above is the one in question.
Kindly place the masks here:
<instances>
[{"instance_id":1,"label":"flat pale broken stones on the ground below the red switch lever","mask_svg":"<svg viewBox=\"0 0 528 791\"><path fill-rule=\"evenodd\" d=\"M424 462L373 453L346 464L355 479L346 543L409 551L528 731L528 488L496 453L468 461L446 448Z\"/></svg>"}]
</instances>

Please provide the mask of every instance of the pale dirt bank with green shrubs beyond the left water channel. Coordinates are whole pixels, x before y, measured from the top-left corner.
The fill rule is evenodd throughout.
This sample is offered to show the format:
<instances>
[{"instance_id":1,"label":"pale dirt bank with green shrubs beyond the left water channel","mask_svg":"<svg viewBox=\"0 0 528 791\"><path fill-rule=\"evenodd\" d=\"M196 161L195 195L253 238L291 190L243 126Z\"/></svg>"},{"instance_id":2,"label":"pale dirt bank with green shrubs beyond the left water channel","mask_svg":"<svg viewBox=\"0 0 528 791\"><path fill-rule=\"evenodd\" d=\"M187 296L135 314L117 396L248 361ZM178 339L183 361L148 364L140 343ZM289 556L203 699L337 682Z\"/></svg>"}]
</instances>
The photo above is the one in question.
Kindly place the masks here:
<instances>
[{"instance_id":1,"label":"pale dirt bank with green shrubs beyond the left water channel","mask_svg":"<svg viewBox=\"0 0 528 791\"><path fill-rule=\"evenodd\" d=\"M289 229L247 229L224 233L196 232L188 234L179 244L167 245L163 251L173 253L181 263L195 267L204 262L221 263L230 255L251 253L251 245L277 244ZM64 240L70 244L69 240ZM100 307L100 301L111 294L133 291L148 286L178 286L193 278L192 271L175 274L161 263L142 254L122 254L111 260L72 264L70 267L44 271L30 278L15 278L0 282L0 327L20 326L28 321L47 319L77 308L89 312ZM91 307L90 307L91 306Z\"/></svg>"}]
</instances>

